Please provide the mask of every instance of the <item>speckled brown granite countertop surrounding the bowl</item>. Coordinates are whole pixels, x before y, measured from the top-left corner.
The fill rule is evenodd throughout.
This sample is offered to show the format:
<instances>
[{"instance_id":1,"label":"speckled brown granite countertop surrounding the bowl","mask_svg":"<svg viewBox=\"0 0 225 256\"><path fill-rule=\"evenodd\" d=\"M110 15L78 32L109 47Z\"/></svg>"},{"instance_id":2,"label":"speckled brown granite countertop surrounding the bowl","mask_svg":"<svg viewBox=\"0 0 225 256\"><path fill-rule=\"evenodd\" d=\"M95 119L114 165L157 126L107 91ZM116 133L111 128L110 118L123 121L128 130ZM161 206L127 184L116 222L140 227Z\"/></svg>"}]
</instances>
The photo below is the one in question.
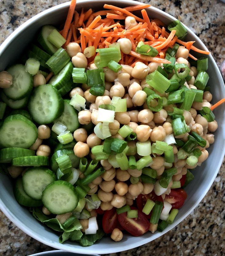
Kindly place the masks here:
<instances>
[{"instance_id":1,"label":"speckled brown granite countertop surrounding the bowl","mask_svg":"<svg viewBox=\"0 0 225 256\"><path fill-rule=\"evenodd\" d=\"M0 43L35 14L66 0L3 0L0 7ZM107 1L106 1L107 2ZM216 0L140 0L181 20L200 37L218 65L225 59L225 4ZM160 238L124 255L225 255L224 161L211 189L197 208ZM30 255L53 250L26 235L0 212L0 255Z\"/></svg>"}]
</instances>

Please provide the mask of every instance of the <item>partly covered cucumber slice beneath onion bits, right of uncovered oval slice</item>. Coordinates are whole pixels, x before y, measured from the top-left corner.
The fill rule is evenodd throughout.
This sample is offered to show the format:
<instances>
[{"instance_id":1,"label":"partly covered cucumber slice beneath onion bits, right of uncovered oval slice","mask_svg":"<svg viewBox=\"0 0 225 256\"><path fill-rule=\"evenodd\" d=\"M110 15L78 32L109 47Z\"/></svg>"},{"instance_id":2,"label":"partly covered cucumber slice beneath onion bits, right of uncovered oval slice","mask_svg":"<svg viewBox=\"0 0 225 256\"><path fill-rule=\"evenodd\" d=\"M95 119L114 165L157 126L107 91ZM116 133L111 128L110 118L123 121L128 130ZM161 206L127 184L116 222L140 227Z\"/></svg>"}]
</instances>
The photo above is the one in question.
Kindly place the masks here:
<instances>
[{"instance_id":1,"label":"partly covered cucumber slice beneath onion bits, right of uncovered oval slice","mask_svg":"<svg viewBox=\"0 0 225 256\"><path fill-rule=\"evenodd\" d=\"M70 132L74 132L79 128L80 123L78 121L78 111L69 104L70 100L64 100L64 111L55 122L61 122L65 124L67 130Z\"/></svg>"}]
</instances>

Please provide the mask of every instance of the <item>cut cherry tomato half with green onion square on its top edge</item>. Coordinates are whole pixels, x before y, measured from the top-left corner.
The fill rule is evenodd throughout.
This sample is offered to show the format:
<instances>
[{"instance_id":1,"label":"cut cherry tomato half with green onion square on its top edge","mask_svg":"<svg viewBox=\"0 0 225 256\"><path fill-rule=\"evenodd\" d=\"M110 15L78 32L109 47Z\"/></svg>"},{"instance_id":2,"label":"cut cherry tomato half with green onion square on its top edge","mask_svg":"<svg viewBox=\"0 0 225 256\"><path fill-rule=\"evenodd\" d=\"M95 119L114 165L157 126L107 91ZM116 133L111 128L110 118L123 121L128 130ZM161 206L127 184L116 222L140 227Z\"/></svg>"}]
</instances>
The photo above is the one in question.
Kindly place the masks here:
<instances>
[{"instance_id":1,"label":"cut cherry tomato half with green onion square on its top edge","mask_svg":"<svg viewBox=\"0 0 225 256\"><path fill-rule=\"evenodd\" d=\"M131 206L132 210L138 210ZM127 218L127 212L118 215L120 225L133 236L142 236L149 230L150 222L146 215L138 210L138 218ZM135 225L134 225L135 222Z\"/></svg>"}]
</instances>

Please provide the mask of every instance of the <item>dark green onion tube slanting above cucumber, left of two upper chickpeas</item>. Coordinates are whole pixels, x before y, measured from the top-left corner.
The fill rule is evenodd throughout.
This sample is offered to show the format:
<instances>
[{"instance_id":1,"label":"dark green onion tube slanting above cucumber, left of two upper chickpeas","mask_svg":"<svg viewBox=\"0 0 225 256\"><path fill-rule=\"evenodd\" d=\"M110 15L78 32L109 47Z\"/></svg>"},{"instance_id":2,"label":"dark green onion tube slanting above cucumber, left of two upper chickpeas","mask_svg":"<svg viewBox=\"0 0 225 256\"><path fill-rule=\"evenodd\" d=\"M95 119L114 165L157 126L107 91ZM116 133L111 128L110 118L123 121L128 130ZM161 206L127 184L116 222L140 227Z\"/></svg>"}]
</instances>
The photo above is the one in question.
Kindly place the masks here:
<instances>
[{"instance_id":1,"label":"dark green onion tube slanting above cucumber, left of two upper chickpeas","mask_svg":"<svg viewBox=\"0 0 225 256\"><path fill-rule=\"evenodd\" d=\"M46 61L46 65L50 70L57 74L68 62L70 57L63 48L59 48L51 57Z\"/></svg>"}]
</instances>

